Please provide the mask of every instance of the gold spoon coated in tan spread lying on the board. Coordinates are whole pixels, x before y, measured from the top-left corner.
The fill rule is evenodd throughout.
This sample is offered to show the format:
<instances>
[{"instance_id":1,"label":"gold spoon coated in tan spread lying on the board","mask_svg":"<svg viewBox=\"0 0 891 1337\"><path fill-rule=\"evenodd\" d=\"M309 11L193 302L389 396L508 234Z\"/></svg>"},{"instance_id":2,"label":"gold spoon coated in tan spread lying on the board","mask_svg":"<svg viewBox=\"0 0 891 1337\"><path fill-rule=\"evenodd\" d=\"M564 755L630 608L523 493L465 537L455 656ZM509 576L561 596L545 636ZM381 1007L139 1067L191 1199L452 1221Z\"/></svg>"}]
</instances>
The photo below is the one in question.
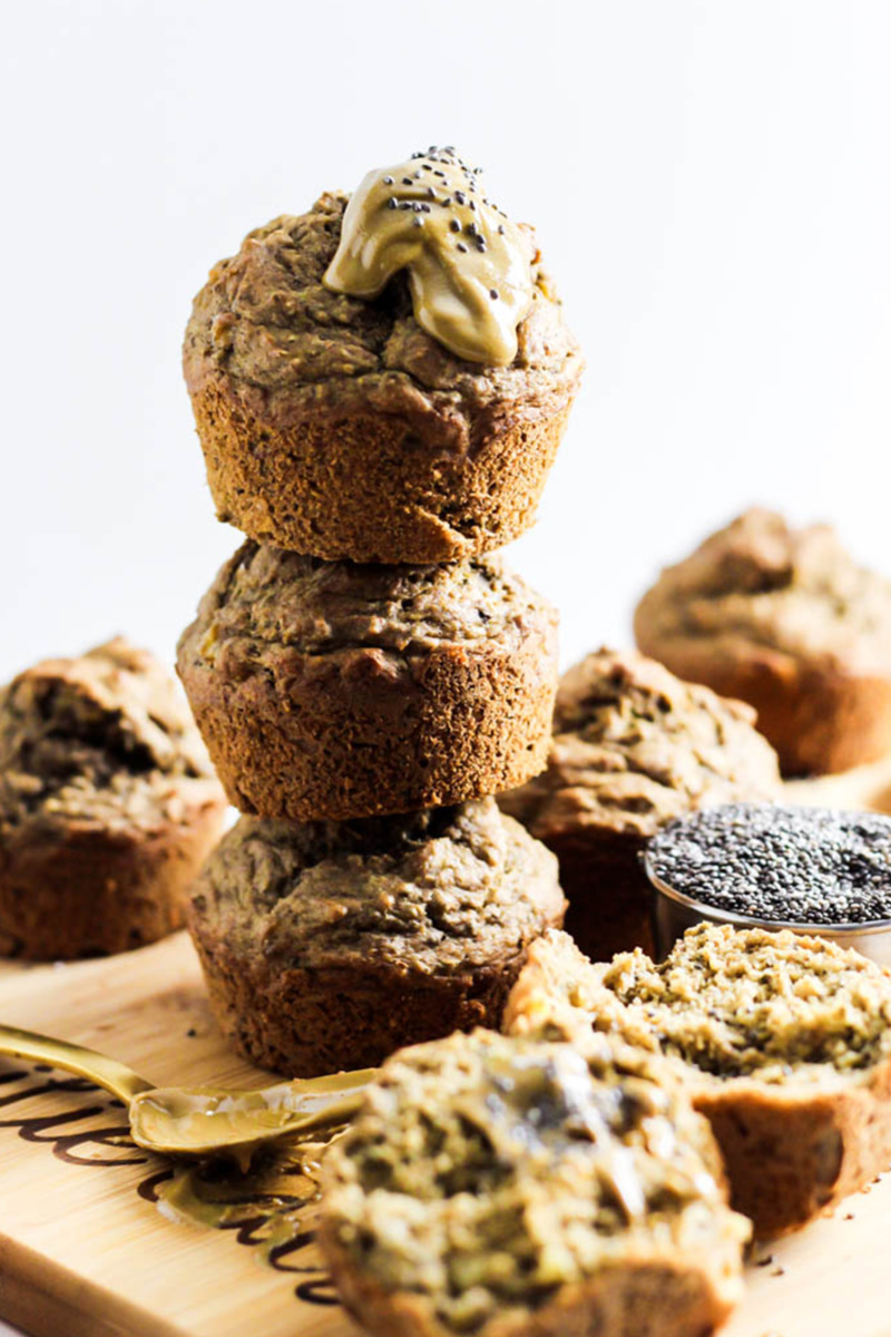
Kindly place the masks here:
<instances>
[{"instance_id":1,"label":"gold spoon coated in tan spread lying on the board","mask_svg":"<svg viewBox=\"0 0 891 1337\"><path fill-rule=\"evenodd\" d=\"M95 1082L127 1106L134 1142L168 1157L228 1154L244 1163L262 1142L346 1123L374 1068L277 1082L259 1091L155 1087L116 1059L67 1040L0 1025L0 1054Z\"/></svg>"}]
</instances>

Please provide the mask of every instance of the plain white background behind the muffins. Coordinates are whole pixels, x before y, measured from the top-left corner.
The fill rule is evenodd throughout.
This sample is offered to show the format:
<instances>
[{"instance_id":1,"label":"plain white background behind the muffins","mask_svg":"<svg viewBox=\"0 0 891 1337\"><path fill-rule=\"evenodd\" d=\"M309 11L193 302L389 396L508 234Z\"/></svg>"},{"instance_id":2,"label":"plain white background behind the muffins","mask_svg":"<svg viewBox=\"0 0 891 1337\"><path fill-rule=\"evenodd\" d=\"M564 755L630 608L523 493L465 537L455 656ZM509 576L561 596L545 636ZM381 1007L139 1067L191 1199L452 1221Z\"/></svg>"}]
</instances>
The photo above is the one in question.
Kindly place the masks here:
<instances>
[{"instance_id":1,"label":"plain white background behind the muffins","mask_svg":"<svg viewBox=\"0 0 891 1337\"><path fill-rule=\"evenodd\" d=\"M210 265L431 142L538 227L588 373L513 563L564 659L745 504L891 570L891 5L0 4L0 675L166 656L238 536L179 344Z\"/></svg>"}]
</instances>

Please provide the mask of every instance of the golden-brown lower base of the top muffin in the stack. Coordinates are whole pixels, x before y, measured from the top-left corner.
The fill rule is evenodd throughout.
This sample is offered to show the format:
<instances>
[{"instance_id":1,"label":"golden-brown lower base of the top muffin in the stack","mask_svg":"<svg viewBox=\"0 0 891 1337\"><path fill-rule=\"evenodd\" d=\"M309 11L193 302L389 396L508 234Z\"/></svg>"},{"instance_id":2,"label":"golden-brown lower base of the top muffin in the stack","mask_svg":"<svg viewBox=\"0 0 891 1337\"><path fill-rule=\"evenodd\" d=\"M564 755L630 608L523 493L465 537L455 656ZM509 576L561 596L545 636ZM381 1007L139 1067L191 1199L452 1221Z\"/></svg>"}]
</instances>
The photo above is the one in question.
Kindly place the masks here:
<instances>
[{"instance_id":1,"label":"golden-brown lower base of the top muffin in the stack","mask_svg":"<svg viewBox=\"0 0 891 1337\"><path fill-rule=\"evenodd\" d=\"M192 394L220 520L329 562L419 566L492 552L532 525L570 406L492 421L465 452L398 417L283 427L220 380Z\"/></svg>"}]
</instances>

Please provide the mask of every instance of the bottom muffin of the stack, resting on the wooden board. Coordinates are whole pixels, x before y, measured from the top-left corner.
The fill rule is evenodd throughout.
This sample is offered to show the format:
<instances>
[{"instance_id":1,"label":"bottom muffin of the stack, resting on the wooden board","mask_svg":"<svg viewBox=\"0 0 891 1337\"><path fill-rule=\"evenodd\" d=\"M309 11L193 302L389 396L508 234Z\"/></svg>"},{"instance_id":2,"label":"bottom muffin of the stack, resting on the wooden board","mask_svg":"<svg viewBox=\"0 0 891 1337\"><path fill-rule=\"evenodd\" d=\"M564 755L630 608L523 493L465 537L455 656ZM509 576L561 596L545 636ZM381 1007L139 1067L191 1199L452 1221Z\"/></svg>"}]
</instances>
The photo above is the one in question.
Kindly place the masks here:
<instances>
[{"instance_id":1,"label":"bottom muffin of the stack, resting on the wooden board","mask_svg":"<svg viewBox=\"0 0 891 1337\"><path fill-rule=\"evenodd\" d=\"M260 1067L315 1076L497 1027L564 906L553 854L484 798L354 822L242 817L190 927L220 1029Z\"/></svg>"}]
</instances>

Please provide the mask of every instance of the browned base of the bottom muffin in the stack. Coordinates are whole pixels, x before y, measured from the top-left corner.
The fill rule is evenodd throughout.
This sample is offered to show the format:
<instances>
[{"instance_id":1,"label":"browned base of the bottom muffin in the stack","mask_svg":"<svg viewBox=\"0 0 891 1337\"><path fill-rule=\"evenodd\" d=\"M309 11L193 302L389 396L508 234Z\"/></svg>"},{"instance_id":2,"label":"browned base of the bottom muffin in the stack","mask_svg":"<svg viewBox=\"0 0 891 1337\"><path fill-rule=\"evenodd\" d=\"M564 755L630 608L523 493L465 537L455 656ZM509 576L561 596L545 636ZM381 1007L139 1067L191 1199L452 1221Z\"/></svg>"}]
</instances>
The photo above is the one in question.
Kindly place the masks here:
<instances>
[{"instance_id":1,"label":"browned base of the bottom muffin in the stack","mask_svg":"<svg viewBox=\"0 0 891 1337\"><path fill-rule=\"evenodd\" d=\"M525 952L454 975L373 965L302 969L251 961L196 917L190 929L223 1035L258 1067L291 1078L377 1067L395 1050L496 1028Z\"/></svg>"}]
</instances>

